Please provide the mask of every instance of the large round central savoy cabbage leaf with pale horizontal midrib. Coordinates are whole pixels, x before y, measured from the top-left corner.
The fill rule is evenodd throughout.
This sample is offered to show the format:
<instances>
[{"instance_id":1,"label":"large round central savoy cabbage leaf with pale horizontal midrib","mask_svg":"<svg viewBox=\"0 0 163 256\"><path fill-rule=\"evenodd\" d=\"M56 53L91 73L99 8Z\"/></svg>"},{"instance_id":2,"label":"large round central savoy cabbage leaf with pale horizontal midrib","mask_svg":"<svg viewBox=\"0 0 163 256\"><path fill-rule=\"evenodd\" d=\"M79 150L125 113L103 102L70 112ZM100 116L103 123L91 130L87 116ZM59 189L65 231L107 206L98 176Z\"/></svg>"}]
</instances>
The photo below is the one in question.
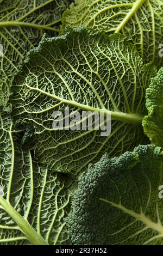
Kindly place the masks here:
<instances>
[{"instance_id":1,"label":"large round central savoy cabbage leaf with pale horizontal midrib","mask_svg":"<svg viewBox=\"0 0 163 256\"><path fill-rule=\"evenodd\" d=\"M34 127L35 157L52 170L79 172L106 151L121 155L147 143L141 121L145 90L154 72L120 34L90 35L82 30L44 36L14 79L12 116L21 129ZM54 130L53 112L64 112L65 107L70 112L110 113L110 136L95 129L72 131L71 124L69 130ZM29 145L31 136L26 129L23 143Z\"/></svg>"}]
</instances>

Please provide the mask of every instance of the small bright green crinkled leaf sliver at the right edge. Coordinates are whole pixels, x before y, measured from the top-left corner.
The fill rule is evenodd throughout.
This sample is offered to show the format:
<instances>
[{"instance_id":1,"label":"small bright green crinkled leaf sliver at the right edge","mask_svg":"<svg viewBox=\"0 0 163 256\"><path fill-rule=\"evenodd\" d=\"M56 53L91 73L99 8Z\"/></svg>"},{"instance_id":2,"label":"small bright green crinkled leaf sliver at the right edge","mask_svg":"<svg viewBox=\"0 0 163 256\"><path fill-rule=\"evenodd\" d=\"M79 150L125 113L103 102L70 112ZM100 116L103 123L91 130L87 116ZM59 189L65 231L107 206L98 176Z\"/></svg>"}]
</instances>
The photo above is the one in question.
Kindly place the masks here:
<instances>
[{"instance_id":1,"label":"small bright green crinkled leaf sliver at the right edge","mask_svg":"<svg viewBox=\"0 0 163 256\"><path fill-rule=\"evenodd\" d=\"M163 148L163 68L147 89L146 107L148 115L143 119L143 129L153 144Z\"/></svg>"}]
</instances>

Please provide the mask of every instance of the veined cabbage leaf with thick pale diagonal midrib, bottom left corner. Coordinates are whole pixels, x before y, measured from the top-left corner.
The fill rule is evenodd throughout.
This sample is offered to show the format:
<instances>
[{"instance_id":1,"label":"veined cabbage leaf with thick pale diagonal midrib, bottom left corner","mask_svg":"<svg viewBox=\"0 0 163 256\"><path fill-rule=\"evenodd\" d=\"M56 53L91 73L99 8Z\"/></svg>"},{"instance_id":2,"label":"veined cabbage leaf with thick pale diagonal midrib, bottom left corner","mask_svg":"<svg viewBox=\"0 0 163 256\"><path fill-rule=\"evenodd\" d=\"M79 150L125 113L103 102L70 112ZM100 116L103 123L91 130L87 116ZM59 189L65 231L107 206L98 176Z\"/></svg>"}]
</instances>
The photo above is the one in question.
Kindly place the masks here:
<instances>
[{"instance_id":1,"label":"veined cabbage leaf with thick pale diagonal midrib, bottom left corner","mask_svg":"<svg viewBox=\"0 0 163 256\"><path fill-rule=\"evenodd\" d=\"M72 181L48 172L20 147L8 113L0 116L0 245L70 244L64 217Z\"/></svg>"}]
</instances>

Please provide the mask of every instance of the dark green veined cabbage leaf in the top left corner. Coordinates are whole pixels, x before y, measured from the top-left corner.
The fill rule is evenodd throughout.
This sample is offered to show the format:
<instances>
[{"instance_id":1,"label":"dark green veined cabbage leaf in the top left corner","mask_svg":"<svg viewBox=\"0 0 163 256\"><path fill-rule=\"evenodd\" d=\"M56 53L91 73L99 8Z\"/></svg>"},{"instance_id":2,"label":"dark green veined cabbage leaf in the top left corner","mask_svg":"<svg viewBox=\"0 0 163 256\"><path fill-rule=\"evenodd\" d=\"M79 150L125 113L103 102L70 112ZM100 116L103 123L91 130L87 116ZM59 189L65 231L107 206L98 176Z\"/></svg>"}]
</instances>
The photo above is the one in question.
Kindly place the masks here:
<instances>
[{"instance_id":1,"label":"dark green veined cabbage leaf in the top left corner","mask_svg":"<svg viewBox=\"0 0 163 256\"><path fill-rule=\"evenodd\" d=\"M37 46L43 33L56 35L61 13L68 0L12 0L0 2L0 44L4 55L0 57L0 107L5 107L11 78L18 70L20 60Z\"/></svg>"}]
</instances>

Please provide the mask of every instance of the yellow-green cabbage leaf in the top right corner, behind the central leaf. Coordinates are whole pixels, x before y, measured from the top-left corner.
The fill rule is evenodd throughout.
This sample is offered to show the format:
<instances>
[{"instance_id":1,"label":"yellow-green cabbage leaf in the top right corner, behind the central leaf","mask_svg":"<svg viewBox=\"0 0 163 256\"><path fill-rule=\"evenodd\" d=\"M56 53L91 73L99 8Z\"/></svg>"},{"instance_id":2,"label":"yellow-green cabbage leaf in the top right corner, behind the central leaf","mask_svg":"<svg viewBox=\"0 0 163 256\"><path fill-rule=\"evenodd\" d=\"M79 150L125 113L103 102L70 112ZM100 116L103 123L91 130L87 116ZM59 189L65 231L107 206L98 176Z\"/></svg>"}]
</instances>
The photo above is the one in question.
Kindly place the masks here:
<instances>
[{"instance_id":1,"label":"yellow-green cabbage leaf in the top right corner, behind the central leaf","mask_svg":"<svg viewBox=\"0 0 163 256\"><path fill-rule=\"evenodd\" d=\"M162 0L75 0L62 16L61 33L67 26L123 33L145 62L154 60L156 66L163 65L158 54L163 42Z\"/></svg>"}]
</instances>

